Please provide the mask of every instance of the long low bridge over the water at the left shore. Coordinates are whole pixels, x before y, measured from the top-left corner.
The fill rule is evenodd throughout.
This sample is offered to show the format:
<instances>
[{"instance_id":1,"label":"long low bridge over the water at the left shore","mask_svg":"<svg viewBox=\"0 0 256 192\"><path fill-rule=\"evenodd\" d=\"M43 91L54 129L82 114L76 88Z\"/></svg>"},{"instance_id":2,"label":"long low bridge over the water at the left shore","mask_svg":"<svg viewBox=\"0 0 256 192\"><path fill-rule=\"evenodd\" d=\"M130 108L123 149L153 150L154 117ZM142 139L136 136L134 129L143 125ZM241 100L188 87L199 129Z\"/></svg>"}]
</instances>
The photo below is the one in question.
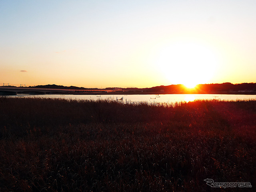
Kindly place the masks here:
<instances>
[{"instance_id":1,"label":"long low bridge over the water at the left shore","mask_svg":"<svg viewBox=\"0 0 256 192\"><path fill-rule=\"evenodd\" d=\"M53 88L35 88L35 87L14 87L0 86L0 95L16 94L81 94L92 92L112 92L113 90L77 90L77 89L53 89Z\"/></svg>"}]
</instances>

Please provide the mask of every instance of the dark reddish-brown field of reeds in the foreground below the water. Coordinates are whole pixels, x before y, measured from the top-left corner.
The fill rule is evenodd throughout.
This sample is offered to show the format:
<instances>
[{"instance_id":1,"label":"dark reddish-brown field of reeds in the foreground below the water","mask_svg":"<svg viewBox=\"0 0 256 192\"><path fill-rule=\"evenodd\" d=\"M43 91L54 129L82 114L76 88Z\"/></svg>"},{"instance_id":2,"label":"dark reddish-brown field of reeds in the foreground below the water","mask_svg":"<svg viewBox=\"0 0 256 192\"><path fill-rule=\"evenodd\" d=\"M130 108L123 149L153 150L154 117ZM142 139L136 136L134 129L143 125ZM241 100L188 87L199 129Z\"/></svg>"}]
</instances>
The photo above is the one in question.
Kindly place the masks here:
<instances>
[{"instance_id":1,"label":"dark reddish-brown field of reeds in the foreground below the water","mask_svg":"<svg viewBox=\"0 0 256 192\"><path fill-rule=\"evenodd\" d=\"M256 101L0 97L0 191L255 191ZM250 182L252 188L211 188Z\"/></svg>"}]
</instances>

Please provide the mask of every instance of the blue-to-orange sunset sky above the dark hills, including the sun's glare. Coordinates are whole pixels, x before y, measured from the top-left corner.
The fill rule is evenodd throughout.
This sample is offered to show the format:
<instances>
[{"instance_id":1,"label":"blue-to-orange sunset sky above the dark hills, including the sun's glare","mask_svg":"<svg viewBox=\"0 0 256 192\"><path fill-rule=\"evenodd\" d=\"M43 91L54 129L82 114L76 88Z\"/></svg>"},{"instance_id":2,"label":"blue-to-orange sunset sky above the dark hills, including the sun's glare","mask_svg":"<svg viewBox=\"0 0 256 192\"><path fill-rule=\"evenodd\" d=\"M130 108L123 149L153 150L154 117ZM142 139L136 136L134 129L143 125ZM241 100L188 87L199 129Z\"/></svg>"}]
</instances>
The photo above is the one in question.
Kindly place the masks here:
<instances>
[{"instance_id":1,"label":"blue-to-orange sunset sky above the dark hills, including the sun's glare","mask_svg":"<svg viewBox=\"0 0 256 192\"><path fill-rule=\"evenodd\" d=\"M0 85L256 82L255 0L0 0Z\"/></svg>"}]
</instances>

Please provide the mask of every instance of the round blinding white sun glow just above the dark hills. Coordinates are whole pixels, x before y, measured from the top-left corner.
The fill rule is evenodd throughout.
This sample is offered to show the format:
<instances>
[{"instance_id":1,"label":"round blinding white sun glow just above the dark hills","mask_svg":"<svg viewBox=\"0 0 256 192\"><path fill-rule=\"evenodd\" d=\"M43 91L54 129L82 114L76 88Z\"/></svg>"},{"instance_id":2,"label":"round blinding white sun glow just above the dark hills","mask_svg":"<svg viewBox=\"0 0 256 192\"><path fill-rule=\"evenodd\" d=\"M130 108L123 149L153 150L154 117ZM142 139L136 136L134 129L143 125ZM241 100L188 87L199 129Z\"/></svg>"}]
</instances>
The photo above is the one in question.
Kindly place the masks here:
<instances>
[{"instance_id":1,"label":"round blinding white sun glow just above the dark hills","mask_svg":"<svg viewBox=\"0 0 256 192\"><path fill-rule=\"evenodd\" d=\"M211 80L219 62L214 52L202 44L176 42L160 50L156 63L171 84L193 88Z\"/></svg>"}]
</instances>

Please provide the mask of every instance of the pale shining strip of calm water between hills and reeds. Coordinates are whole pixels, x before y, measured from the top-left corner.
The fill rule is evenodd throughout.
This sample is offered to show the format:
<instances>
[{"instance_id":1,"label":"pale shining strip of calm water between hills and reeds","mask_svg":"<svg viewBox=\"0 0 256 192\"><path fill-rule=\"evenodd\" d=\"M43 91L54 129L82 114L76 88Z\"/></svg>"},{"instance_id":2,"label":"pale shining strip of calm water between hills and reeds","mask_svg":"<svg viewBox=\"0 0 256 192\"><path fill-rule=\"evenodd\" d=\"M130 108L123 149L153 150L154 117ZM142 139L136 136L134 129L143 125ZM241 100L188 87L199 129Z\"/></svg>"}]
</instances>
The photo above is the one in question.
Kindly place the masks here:
<instances>
[{"instance_id":1,"label":"pale shining strip of calm water between hills and reeds","mask_svg":"<svg viewBox=\"0 0 256 192\"><path fill-rule=\"evenodd\" d=\"M194 100L256 100L256 95L227 95L227 94L159 94L159 95L60 95L60 94L52 94L52 95L25 95L18 94L10 97L34 97L34 98L63 98L63 99L87 99L87 100L116 100L116 98L120 99L123 97L124 102L181 102L181 101L194 101Z\"/></svg>"}]
</instances>

